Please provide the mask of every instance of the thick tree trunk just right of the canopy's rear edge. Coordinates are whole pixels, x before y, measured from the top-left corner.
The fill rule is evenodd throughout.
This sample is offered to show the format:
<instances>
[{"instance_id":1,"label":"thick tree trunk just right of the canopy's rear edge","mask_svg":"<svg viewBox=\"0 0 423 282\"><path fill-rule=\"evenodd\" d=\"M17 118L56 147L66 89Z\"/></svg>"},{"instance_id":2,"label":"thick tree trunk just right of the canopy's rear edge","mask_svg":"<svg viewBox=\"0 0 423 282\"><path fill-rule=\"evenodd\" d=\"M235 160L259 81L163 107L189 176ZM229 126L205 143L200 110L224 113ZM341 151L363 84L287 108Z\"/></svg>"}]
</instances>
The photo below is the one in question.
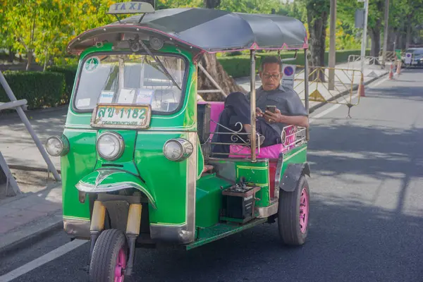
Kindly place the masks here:
<instances>
[{"instance_id":1,"label":"thick tree trunk just right of the canopy's rear edge","mask_svg":"<svg viewBox=\"0 0 423 282\"><path fill-rule=\"evenodd\" d=\"M329 5L327 11L322 11L319 14L314 12L311 7L307 8L307 23L309 26L309 66L311 67L323 67L324 64L324 53L326 49L326 26L328 23ZM315 68L311 68L309 73L312 73ZM309 80L319 80L325 82L324 71L314 71L310 75Z\"/></svg>"}]
</instances>

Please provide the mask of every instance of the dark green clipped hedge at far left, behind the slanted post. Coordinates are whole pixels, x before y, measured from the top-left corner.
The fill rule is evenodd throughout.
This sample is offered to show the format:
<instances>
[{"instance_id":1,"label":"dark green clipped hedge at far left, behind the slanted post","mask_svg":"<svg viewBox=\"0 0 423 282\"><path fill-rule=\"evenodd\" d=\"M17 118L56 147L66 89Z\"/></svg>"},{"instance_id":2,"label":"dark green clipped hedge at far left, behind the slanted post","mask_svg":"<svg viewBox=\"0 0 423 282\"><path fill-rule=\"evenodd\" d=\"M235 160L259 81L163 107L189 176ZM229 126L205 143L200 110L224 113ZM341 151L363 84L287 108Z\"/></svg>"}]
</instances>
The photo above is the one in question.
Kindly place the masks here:
<instances>
[{"instance_id":1,"label":"dark green clipped hedge at far left, behind the slanted post","mask_svg":"<svg viewBox=\"0 0 423 282\"><path fill-rule=\"evenodd\" d=\"M4 77L16 99L26 99L28 109L66 104L64 99L65 76L62 73L37 71L5 71ZM9 102L3 87L0 87L0 102Z\"/></svg>"}]
</instances>

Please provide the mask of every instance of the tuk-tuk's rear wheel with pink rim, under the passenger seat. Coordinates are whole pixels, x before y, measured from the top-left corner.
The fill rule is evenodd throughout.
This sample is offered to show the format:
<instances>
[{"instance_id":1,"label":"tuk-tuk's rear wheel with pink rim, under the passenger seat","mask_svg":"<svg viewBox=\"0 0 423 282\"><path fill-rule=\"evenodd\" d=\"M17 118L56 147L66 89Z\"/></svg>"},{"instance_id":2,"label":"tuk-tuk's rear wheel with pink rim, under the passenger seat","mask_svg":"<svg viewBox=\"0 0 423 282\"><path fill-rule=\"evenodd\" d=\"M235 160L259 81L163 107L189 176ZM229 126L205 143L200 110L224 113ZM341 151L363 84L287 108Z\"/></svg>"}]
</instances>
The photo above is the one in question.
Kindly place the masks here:
<instances>
[{"instance_id":1,"label":"tuk-tuk's rear wheel with pink rim, under the passenger seat","mask_svg":"<svg viewBox=\"0 0 423 282\"><path fill-rule=\"evenodd\" d=\"M300 176L293 192L281 190L278 206L278 229L286 245L302 245L308 233L309 185L304 175Z\"/></svg>"}]
</instances>

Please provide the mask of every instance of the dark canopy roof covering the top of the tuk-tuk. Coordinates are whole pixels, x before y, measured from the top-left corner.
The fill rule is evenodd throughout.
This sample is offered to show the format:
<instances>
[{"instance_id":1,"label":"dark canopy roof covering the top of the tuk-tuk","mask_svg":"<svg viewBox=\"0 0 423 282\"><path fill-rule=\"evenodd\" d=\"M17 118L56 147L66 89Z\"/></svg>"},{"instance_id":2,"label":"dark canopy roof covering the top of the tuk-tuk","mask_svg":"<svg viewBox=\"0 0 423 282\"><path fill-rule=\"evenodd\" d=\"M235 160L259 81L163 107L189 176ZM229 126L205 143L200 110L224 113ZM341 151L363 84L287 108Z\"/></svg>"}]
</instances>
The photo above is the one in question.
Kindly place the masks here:
<instances>
[{"instance_id":1,"label":"dark canopy roof covering the top of the tuk-tuk","mask_svg":"<svg viewBox=\"0 0 423 282\"><path fill-rule=\"evenodd\" d=\"M307 48L305 26L295 18L276 15L230 13L207 8L171 8L131 16L89 30L73 39L68 51L78 52L97 42L118 41L122 32L159 36L168 42L209 53L245 49ZM115 35L111 38L111 35Z\"/></svg>"}]
</instances>

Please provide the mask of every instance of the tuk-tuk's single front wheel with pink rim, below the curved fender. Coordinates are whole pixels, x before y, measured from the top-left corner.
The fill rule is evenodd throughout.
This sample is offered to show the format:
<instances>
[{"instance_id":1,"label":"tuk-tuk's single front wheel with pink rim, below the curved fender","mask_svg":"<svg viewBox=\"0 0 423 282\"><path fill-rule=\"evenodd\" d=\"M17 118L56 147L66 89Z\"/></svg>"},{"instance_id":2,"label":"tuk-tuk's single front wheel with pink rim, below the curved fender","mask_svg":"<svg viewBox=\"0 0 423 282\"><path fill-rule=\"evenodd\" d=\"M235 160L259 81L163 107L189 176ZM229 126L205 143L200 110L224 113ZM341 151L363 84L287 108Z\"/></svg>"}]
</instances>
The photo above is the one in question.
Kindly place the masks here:
<instances>
[{"instance_id":1,"label":"tuk-tuk's single front wheel with pink rim, below the curved fender","mask_svg":"<svg viewBox=\"0 0 423 282\"><path fill-rule=\"evenodd\" d=\"M127 254L128 245L122 231L102 231L92 251L90 281L123 282Z\"/></svg>"}]
</instances>

